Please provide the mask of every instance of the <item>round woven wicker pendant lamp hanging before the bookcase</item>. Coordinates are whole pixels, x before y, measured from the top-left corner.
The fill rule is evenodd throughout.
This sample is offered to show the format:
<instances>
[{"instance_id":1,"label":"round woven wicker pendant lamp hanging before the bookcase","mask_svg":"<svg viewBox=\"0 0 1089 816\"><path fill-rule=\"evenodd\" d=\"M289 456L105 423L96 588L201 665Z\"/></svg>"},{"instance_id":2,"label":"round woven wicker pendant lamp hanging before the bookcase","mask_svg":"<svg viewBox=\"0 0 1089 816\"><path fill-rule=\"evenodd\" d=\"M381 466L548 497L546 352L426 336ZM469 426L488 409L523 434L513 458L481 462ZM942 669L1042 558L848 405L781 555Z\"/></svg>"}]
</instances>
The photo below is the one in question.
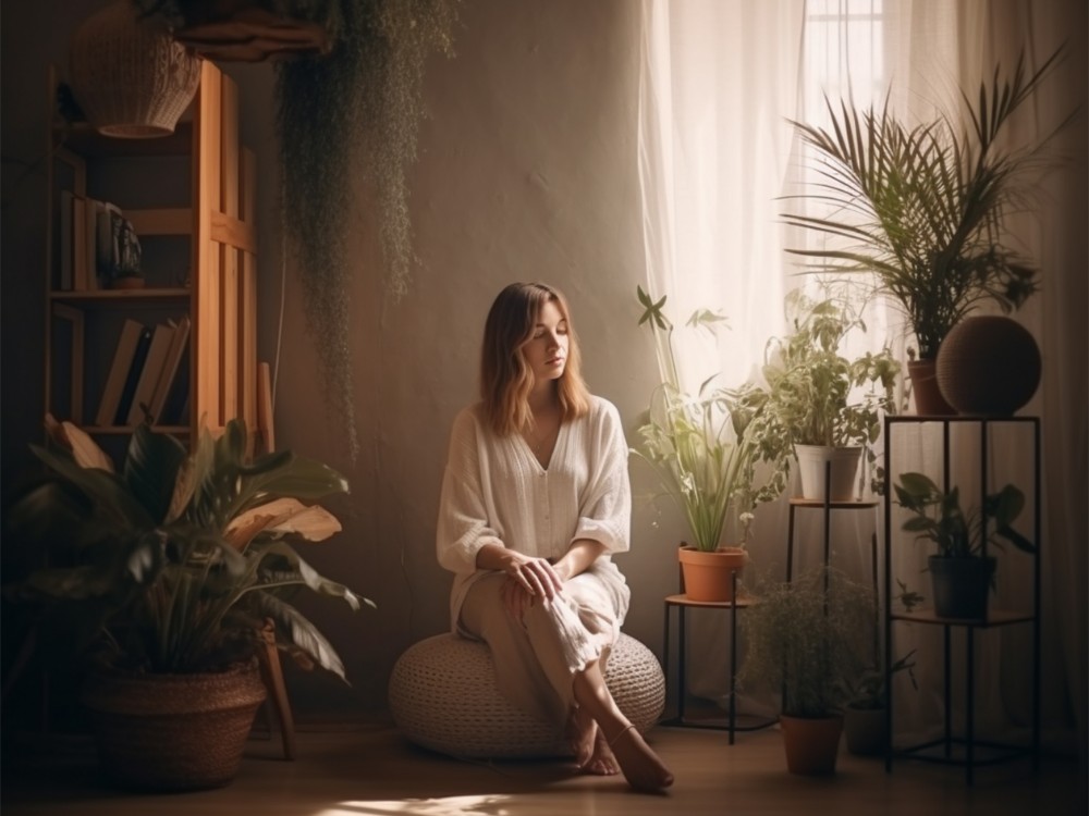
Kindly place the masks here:
<instances>
[{"instance_id":1,"label":"round woven wicker pendant lamp hanging before the bookcase","mask_svg":"<svg viewBox=\"0 0 1089 816\"><path fill-rule=\"evenodd\" d=\"M72 38L72 91L105 136L169 136L193 100L200 58L159 20L137 18L132 0L88 17Z\"/></svg>"}]
</instances>

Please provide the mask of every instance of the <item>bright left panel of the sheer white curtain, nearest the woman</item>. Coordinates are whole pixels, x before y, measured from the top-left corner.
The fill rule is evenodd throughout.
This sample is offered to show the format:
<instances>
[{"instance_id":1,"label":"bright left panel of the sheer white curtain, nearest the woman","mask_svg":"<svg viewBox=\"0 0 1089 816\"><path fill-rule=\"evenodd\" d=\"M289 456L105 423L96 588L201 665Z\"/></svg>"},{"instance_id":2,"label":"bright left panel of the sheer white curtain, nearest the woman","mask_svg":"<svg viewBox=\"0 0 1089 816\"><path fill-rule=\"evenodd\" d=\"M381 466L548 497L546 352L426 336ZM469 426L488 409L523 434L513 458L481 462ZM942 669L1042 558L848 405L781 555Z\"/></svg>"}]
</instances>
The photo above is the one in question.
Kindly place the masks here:
<instances>
[{"instance_id":1,"label":"bright left panel of the sheer white curtain, nearest the woman","mask_svg":"<svg viewBox=\"0 0 1089 816\"><path fill-rule=\"evenodd\" d=\"M678 326L730 320L720 355L677 331L682 382L739 384L782 323L775 198L790 160L803 0L645 0L639 171L646 286Z\"/></svg>"}]
</instances>

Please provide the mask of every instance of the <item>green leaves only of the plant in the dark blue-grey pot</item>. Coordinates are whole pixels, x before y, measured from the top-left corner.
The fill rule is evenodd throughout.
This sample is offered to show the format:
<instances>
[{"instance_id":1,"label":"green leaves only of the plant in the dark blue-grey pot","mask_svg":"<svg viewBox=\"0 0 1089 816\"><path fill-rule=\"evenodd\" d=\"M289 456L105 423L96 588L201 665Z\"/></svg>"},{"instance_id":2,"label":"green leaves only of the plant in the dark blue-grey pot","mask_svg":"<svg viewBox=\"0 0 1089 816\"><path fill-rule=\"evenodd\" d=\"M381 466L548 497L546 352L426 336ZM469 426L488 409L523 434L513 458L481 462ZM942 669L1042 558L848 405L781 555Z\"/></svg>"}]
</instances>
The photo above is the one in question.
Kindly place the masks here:
<instances>
[{"instance_id":1,"label":"green leaves only of the plant in the dark blue-grey pot","mask_svg":"<svg viewBox=\"0 0 1089 816\"><path fill-rule=\"evenodd\" d=\"M1013 484L984 496L981 508L967 511L960 507L959 487L943 491L926 473L901 473L893 486L897 504L911 511L903 529L916 533L916 541L937 544L942 557L980 556L984 540L999 548L1005 542L1025 553L1036 552L1036 545L1013 527L1025 508L1025 494Z\"/></svg>"}]
</instances>

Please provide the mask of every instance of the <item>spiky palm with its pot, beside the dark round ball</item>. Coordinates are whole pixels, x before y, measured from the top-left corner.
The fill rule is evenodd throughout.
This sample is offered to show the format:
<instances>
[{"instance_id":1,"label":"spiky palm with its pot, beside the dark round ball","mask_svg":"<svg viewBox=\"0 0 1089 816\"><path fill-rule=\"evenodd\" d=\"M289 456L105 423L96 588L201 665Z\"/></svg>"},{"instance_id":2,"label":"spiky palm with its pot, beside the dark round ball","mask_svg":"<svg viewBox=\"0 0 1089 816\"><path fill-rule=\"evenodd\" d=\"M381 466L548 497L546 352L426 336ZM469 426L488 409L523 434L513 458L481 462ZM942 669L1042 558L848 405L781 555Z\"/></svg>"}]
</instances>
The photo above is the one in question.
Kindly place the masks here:
<instances>
[{"instance_id":1,"label":"spiky palm with its pot, beside the dark round ball","mask_svg":"<svg viewBox=\"0 0 1089 816\"><path fill-rule=\"evenodd\" d=\"M918 344L908 369L920 413L954 412L934 374L953 327L983 300L1011 312L1038 288L1037 270L1008 245L1003 215L1024 210L1047 139L1011 146L1006 131L1057 57L1031 74L1024 57L1012 75L995 66L978 94L960 92L958 110L918 125L897 119L888 99L864 110L827 100L828 127L793 123L819 176L796 198L820 210L784 218L824 243L790 251L810 271L871 275L903 309ZM1008 380L1006 362L1003 374Z\"/></svg>"}]
</instances>

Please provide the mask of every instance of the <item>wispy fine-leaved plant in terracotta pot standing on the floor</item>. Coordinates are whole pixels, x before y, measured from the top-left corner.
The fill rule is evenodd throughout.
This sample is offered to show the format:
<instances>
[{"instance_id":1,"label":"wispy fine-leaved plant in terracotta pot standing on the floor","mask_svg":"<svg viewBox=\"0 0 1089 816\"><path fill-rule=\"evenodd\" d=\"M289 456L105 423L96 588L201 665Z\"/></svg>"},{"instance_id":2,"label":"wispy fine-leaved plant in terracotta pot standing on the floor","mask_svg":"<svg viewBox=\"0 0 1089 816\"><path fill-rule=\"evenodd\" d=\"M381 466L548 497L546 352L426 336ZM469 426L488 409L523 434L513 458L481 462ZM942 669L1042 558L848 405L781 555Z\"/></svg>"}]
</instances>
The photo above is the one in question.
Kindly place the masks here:
<instances>
[{"instance_id":1,"label":"wispy fine-leaved plant in terracotta pot standing on the floor","mask_svg":"<svg viewBox=\"0 0 1089 816\"><path fill-rule=\"evenodd\" d=\"M832 774L849 682L870 660L873 594L819 567L758 588L742 619L738 680L782 690L780 726L792 774Z\"/></svg>"}]
</instances>

